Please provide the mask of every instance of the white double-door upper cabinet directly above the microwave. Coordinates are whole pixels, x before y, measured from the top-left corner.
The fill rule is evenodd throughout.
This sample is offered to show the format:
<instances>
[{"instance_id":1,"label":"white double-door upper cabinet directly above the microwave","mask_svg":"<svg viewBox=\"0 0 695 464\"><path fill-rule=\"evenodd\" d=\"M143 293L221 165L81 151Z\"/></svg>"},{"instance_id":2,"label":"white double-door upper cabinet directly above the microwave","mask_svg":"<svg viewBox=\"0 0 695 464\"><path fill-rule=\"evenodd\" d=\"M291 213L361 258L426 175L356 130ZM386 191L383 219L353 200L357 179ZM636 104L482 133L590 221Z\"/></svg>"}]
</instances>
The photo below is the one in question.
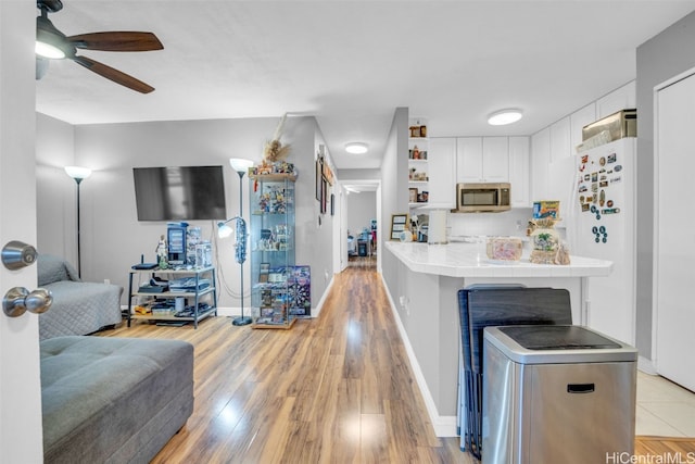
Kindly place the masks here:
<instances>
[{"instance_id":1,"label":"white double-door upper cabinet directly above the microwave","mask_svg":"<svg viewBox=\"0 0 695 464\"><path fill-rule=\"evenodd\" d=\"M458 183L509 181L507 137L459 137L456 141Z\"/></svg>"}]
</instances>

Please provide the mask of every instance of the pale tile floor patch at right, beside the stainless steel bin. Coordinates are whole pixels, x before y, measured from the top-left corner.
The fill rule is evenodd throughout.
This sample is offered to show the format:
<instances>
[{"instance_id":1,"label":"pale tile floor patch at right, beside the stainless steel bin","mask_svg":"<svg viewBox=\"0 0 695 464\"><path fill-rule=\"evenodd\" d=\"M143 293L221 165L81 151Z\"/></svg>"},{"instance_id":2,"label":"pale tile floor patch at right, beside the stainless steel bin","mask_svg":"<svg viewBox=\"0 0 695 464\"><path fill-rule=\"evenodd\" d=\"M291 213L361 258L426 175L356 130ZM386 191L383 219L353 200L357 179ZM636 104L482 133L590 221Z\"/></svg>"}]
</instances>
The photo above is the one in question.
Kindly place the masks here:
<instances>
[{"instance_id":1,"label":"pale tile floor patch at right, beside the stainless steel bin","mask_svg":"<svg viewBox=\"0 0 695 464\"><path fill-rule=\"evenodd\" d=\"M695 437L695 393L637 371L635 435Z\"/></svg>"}]
</instances>

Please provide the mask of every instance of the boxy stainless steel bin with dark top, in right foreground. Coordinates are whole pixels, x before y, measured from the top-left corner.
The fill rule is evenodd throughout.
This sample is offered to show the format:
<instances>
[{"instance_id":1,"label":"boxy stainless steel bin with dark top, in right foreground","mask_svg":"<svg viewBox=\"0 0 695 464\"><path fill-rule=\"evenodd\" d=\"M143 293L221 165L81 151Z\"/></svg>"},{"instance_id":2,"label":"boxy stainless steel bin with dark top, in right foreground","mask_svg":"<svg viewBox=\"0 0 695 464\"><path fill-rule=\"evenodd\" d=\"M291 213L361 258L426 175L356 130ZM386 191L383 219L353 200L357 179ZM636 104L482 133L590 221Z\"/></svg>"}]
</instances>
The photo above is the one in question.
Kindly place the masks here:
<instances>
[{"instance_id":1,"label":"boxy stainless steel bin with dark top, in right foreground","mask_svg":"<svg viewBox=\"0 0 695 464\"><path fill-rule=\"evenodd\" d=\"M633 455L636 358L581 326L485 328L483 464Z\"/></svg>"}]
</instances>

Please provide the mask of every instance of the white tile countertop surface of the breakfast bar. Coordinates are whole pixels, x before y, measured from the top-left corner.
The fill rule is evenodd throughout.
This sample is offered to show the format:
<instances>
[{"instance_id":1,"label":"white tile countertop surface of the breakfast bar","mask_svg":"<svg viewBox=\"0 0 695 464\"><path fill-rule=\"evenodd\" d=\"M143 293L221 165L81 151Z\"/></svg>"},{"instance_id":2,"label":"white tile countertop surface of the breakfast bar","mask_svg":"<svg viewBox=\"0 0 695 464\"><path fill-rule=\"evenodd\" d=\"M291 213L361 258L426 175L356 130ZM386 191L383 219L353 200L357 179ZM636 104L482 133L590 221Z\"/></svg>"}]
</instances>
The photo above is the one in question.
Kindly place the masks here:
<instances>
[{"instance_id":1,"label":"white tile countertop surface of the breakfast bar","mask_svg":"<svg viewBox=\"0 0 695 464\"><path fill-rule=\"evenodd\" d=\"M484 243L386 241L384 244L410 271L448 277L593 277L612 272L611 261L574 255L568 265L533 264L526 253L519 262L498 264L488 260Z\"/></svg>"}]
</instances>

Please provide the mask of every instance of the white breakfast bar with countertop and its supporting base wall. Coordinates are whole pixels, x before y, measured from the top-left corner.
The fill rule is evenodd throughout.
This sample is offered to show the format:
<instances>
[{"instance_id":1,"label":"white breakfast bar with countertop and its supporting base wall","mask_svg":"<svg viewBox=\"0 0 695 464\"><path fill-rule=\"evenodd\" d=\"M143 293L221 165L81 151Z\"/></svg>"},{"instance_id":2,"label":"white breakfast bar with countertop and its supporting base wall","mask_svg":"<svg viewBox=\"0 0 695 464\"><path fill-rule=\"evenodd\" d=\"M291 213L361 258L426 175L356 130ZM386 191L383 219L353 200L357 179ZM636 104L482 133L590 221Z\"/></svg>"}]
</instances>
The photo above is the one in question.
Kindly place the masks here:
<instances>
[{"instance_id":1,"label":"white breakfast bar with countertop and its supporting base wall","mask_svg":"<svg viewBox=\"0 0 695 464\"><path fill-rule=\"evenodd\" d=\"M608 276L612 263L570 256L568 265L491 262L484 243L428 244L386 241L382 277L434 431L456 436L458 351L457 292L470 286L564 288L572 323L589 325L586 299L593 278Z\"/></svg>"}]
</instances>

